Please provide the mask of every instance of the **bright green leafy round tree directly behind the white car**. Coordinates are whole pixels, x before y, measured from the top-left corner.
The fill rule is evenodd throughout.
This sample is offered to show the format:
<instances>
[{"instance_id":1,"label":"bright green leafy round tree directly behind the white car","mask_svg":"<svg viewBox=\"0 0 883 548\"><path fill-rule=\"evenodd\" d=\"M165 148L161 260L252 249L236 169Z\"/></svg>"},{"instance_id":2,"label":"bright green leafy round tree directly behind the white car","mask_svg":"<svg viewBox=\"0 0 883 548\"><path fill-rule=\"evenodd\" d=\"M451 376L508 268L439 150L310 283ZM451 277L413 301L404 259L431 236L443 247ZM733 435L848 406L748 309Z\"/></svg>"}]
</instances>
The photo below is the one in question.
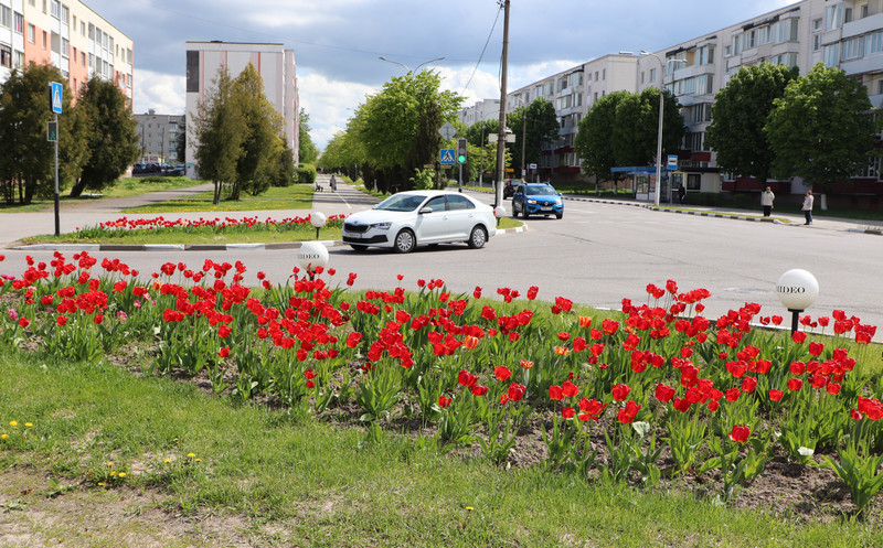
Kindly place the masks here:
<instances>
[{"instance_id":1,"label":"bright green leafy round tree directly behind the white car","mask_svg":"<svg viewBox=\"0 0 883 548\"><path fill-rule=\"evenodd\" d=\"M379 187L407 189L415 169L430 163L442 138L438 128L453 120L462 97L439 92L432 71L393 77L360 108L359 140L382 169Z\"/></svg>"}]
</instances>

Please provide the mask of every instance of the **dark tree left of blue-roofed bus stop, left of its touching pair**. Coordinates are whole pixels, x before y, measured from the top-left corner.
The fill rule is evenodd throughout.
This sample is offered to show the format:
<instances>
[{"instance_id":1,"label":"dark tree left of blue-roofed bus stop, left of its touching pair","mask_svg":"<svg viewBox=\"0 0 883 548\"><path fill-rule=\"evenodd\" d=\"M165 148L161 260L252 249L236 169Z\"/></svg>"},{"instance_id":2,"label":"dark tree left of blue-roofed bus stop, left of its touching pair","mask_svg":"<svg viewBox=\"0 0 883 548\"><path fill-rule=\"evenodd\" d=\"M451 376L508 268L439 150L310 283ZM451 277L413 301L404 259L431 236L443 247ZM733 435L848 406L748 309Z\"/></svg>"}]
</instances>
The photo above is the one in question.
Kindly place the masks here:
<instances>
[{"instance_id":1,"label":"dark tree left of blue-roofed bus stop, left of its touching pair","mask_svg":"<svg viewBox=\"0 0 883 548\"><path fill-rule=\"evenodd\" d=\"M574 149L583 161L583 173L598 181L607 180L617 165L610 136L616 127L616 107L629 95L628 92L605 95L579 120Z\"/></svg>"}]
</instances>

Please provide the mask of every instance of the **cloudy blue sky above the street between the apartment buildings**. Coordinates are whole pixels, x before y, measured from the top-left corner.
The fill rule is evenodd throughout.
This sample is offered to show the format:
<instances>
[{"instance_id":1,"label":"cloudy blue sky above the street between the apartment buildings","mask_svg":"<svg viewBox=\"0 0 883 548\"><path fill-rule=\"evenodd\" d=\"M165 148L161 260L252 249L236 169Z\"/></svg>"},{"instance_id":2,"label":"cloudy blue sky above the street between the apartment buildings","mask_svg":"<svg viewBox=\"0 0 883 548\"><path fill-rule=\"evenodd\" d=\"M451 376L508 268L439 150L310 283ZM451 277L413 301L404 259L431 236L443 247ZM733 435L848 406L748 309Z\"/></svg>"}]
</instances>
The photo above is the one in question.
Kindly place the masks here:
<instances>
[{"instance_id":1,"label":"cloudy blue sky above the street between the apartment buildings","mask_svg":"<svg viewBox=\"0 0 883 548\"><path fill-rule=\"evenodd\" d=\"M86 0L135 41L135 111L184 110L184 42L284 43L301 106L323 148L392 76L427 66L465 105L499 98L503 17L497 0ZM794 0L512 0L509 90L609 53L658 51ZM496 24L494 24L496 23ZM487 49L486 47L487 43ZM482 55L483 50L483 55Z\"/></svg>"}]
</instances>

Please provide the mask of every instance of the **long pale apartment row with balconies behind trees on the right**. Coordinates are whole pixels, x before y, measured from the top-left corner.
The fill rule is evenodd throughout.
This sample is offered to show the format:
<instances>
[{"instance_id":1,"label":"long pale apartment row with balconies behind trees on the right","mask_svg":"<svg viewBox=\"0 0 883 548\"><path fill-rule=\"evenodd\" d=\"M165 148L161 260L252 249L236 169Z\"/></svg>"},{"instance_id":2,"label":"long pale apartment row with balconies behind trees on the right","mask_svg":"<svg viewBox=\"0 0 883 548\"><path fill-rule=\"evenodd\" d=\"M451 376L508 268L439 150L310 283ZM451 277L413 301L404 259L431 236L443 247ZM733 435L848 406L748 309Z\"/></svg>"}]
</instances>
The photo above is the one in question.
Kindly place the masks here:
<instances>
[{"instance_id":1,"label":"long pale apartment row with balconies behind trees on the right","mask_svg":"<svg viewBox=\"0 0 883 548\"><path fill-rule=\"evenodd\" d=\"M579 161L572 154L573 126L593 103L619 89L640 93L664 86L678 97L687 125L672 185L684 184L692 192L757 192L756 181L721 173L705 143L705 131L717 92L741 67L765 62L796 66L801 75L817 63L840 67L866 86L874 107L883 105L883 0L802 0L662 51L606 55L510 93L507 108L536 97L553 101L562 122L561 139L549 143L543 166L556 178L575 178ZM567 95L573 98L566 99ZM582 105L576 106L574 101L579 100ZM880 159L869 159L864 173L842 189L851 193L843 200L877 206L883 195L880 163ZM639 195L652 192L649 175L636 182ZM773 186L785 194L805 191L799 179Z\"/></svg>"}]
</instances>

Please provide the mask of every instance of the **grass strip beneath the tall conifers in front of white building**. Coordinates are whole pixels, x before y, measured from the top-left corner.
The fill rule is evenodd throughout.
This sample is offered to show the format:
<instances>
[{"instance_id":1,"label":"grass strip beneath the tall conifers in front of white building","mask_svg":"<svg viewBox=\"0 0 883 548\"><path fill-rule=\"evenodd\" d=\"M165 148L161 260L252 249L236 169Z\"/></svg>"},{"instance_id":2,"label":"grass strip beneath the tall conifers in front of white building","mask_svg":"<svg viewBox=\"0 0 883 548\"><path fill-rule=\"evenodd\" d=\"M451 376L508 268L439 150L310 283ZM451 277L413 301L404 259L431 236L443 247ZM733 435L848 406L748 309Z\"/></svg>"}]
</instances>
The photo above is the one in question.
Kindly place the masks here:
<instances>
[{"instance_id":1,"label":"grass strip beneath the tall conifers in front of white building","mask_svg":"<svg viewBox=\"0 0 883 548\"><path fill-rule=\"evenodd\" d=\"M247 212L273 209L310 209L313 187L306 184L273 186L258 196L243 194L240 200L226 200L213 204L213 193L205 192L187 200L158 202L150 205L129 207L125 213L180 213L180 212Z\"/></svg>"}]
</instances>

